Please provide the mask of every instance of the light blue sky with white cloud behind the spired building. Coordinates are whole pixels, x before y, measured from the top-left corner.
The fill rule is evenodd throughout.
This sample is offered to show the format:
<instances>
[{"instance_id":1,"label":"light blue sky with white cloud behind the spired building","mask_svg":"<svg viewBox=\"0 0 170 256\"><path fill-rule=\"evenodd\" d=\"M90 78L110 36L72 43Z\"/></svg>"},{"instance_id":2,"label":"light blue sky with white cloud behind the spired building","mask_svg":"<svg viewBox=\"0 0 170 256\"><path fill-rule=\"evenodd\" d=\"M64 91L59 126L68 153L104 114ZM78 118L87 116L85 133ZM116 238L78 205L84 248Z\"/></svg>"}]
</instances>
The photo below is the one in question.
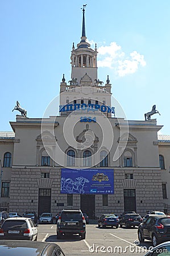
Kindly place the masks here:
<instances>
[{"instance_id":1,"label":"light blue sky with white cloud behind the spired building","mask_svg":"<svg viewBox=\"0 0 170 256\"><path fill-rule=\"evenodd\" d=\"M98 79L109 75L113 96L129 120L152 115L170 135L170 1L0 0L0 131L12 131L16 101L27 117L42 118L71 80L71 51L86 37L98 51Z\"/></svg>"}]
</instances>

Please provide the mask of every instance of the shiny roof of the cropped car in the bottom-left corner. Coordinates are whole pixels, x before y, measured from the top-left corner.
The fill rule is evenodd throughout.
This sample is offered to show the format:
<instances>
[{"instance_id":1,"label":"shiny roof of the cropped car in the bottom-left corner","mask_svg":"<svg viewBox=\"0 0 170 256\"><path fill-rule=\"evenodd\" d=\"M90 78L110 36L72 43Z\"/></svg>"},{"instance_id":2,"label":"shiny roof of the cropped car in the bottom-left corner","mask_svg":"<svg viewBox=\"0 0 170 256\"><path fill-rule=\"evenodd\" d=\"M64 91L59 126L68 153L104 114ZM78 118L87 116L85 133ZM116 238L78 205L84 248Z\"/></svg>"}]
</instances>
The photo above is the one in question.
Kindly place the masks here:
<instances>
[{"instance_id":1,"label":"shiny roof of the cropped car in the bottom-left corner","mask_svg":"<svg viewBox=\"0 0 170 256\"><path fill-rule=\"evenodd\" d=\"M7 256L40 256L42 251L53 246L59 248L56 243L40 242L40 241L16 241L16 240L0 240L0 253ZM10 250L9 250L10 249ZM29 250L30 249L30 250Z\"/></svg>"}]
</instances>

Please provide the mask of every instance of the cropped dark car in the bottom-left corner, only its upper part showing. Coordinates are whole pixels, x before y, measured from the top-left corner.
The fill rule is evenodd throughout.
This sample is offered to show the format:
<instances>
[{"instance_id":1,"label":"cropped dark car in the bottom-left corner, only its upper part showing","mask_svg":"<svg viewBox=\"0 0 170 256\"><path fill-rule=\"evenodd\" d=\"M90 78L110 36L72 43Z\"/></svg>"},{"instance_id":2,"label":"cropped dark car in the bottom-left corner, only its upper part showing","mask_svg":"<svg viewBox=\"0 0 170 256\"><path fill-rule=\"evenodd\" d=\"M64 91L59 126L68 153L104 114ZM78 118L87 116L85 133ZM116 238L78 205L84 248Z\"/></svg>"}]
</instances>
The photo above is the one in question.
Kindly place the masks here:
<instances>
[{"instance_id":1,"label":"cropped dark car in the bottom-left corner, only its upper part showing","mask_svg":"<svg viewBox=\"0 0 170 256\"><path fill-rule=\"evenodd\" d=\"M63 250L56 243L13 240L0 241L0 255L65 256Z\"/></svg>"}]
</instances>

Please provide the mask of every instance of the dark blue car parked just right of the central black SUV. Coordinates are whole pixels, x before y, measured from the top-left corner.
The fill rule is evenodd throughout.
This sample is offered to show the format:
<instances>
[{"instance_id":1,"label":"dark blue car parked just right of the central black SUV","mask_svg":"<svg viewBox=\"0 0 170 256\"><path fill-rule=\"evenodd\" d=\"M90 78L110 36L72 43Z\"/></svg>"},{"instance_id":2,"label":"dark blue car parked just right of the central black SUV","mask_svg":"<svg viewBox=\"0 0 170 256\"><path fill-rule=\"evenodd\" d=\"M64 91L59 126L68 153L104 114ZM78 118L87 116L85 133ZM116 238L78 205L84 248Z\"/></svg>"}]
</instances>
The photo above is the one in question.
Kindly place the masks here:
<instances>
[{"instance_id":1,"label":"dark blue car parked just right of the central black SUV","mask_svg":"<svg viewBox=\"0 0 170 256\"><path fill-rule=\"evenodd\" d=\"M102 214L98 220L98 228L106 228L106 226L115 226L116 229L119 227L119 219L114 214Z\"/></svg>"}]
</instances>

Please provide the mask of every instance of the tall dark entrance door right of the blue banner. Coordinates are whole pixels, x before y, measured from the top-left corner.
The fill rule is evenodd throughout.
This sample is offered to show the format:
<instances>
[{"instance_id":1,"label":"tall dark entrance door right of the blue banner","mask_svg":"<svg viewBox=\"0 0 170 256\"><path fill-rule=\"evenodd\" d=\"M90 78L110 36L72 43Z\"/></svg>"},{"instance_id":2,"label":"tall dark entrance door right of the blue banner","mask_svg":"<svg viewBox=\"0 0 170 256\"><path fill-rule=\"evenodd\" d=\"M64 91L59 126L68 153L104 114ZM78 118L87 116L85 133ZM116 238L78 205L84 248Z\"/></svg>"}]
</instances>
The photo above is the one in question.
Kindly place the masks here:
<instances>
[{"instance_id":1,"label":"tall dark entrance door right of the blue banner","mask_svg":"<svg viewBox=\"0 0 170 256\"><path fill-rule=\"evenodd\" d=\"M125 212L136 212L135 189L124 189L124 210Z\"/></svg>"}]
</instances>

